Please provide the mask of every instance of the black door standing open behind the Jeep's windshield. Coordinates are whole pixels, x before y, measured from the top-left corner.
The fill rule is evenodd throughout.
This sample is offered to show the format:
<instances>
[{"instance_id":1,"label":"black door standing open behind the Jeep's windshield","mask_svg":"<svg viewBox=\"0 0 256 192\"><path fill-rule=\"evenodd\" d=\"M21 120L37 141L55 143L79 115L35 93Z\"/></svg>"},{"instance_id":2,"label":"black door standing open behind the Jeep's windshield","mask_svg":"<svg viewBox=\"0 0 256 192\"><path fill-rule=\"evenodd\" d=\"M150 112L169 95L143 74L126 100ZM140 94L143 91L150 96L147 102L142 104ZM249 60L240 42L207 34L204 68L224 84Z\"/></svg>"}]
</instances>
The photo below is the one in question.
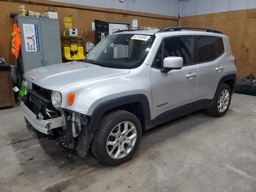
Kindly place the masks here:
<instances>
[{"instance_id":1,"label":"black door standing open behind the Jeep's windshield","mask_svg":"<svg viewBox=\"0 0 256 192\"><path fill-rule=\"evenodd\" d=\"M102 33L104 37L108 35L109 23L100 20L94 20L95 22L95 44L98 44L102 40Z\"/></svg>"}]
</instances>

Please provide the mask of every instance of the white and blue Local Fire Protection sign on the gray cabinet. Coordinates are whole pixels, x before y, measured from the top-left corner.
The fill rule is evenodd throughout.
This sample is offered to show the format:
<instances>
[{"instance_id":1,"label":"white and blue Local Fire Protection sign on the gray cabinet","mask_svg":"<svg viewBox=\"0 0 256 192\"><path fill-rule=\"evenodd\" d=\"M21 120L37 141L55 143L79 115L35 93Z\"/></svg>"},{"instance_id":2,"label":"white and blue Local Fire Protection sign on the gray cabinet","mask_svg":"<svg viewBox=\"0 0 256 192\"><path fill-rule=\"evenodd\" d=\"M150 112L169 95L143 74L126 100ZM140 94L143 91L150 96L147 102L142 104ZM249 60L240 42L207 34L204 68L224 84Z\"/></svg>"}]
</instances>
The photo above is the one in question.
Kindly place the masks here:
<instances>
[{"instance_id":1,"label":"white and blue Local Fire Protection sign on the gray cabinet","mask_svg":"<svg viewBox=\"0 0 256 192\"><path fill-rule=\"evenodd\" d=\"M26 51L40 51L38 27L34 24L23 24Z\"/></svg>"}]
</instances>

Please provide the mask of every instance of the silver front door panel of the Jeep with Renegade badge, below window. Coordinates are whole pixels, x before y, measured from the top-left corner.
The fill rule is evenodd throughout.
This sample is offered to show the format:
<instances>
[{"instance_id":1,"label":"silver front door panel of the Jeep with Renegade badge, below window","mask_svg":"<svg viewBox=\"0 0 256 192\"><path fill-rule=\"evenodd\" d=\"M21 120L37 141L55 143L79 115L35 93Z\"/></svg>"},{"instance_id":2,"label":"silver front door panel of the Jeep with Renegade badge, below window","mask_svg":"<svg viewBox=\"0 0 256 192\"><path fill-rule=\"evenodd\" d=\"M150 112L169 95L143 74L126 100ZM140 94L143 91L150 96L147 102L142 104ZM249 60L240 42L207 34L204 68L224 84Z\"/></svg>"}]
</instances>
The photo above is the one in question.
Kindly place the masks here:
<instances>
[{"instance_id":1,"label":"silver front door panel of the Jeep with Renegade badge, below window","mask_svg":"<svg viewBox=\"0 0 256 192\"><path fill-rule=\"evenodd\" d=\"M168 73L152 68L150 74L152 119L168 110L195 101L198 78L196 74L198 74L197 65L184 66Z\"/></svg>"}]
</instances>

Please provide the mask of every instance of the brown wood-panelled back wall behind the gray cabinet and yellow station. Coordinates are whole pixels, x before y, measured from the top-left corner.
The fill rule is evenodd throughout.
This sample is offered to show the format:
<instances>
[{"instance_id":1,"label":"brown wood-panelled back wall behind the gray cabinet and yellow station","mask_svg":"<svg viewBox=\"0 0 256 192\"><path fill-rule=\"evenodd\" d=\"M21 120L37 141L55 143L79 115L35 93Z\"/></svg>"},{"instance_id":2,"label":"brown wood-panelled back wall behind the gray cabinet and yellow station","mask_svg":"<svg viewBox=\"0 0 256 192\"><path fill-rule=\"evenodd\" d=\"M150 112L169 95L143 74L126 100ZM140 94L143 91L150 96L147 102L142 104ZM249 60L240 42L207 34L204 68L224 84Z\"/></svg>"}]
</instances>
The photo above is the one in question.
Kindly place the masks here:
<instances>
[{"instance_id":1,"label":"brown wood-panelled back wall behind the gray cabinet and yellow station","mask_svg":"<svg viewBox=\"0 0 256 192\"><path fill-rule=\"evenodd\" d=\"M148 13L141 13L141 12L133 12L127 10L118 10L118 9L110 9L110 8L97 8L97 7L90 7L90 6L78 6L74 4L68 3L60 3L60 2L53 2L48 0L32 0L30 2L37 2L37 3L46 3L52 4L56 6L51 6L51 8L58 12L58 18L60 20L60 30L64 29L64 17L71 17L72 18L72 28L78 29L78 35L82 36L83 38L83 45L84 45L84 52L85 52L85 44L86 42L94 42L94 31L92 31L92 20L103 20L103 21L123 21L123 22L132 22L132 19L138 19L138 27L141 26L151 26L151 27L158 27L164 28L168 26L177 26L178 22L173 20L177 17L172 16L162 16L157 14L148 14ZM10 1L2 1L0 0L0 7L2 8L0 14L0 56L4 56L6 60L9 61L10 64L16 64L16 60L14 56L11 54L11 33L12 33L12 24L13 18L10 17L11 12L18 12L18 6L24 4L25 8L28 10L44 13L46 10L49 9L46 5L38 5L38 4L30 4L28 2L10 2ZM90 8L95 9L96 11L90 10L81 10L79 8L62 8L57 7L59 5L62 6L77 6L79 8ZM99 12L99 10L101 12ZM118 12L117 13L106 13L104 11L110 12ZM131 16L127 14L136 14L139 16ZM148 18L146 16L152 16L156 18ZM167 20L166 20L167 18ZM87 29L87 36L85 36L85 28ZM86 54L86 53L85 53Z\"/></svg>"}]
</instances>

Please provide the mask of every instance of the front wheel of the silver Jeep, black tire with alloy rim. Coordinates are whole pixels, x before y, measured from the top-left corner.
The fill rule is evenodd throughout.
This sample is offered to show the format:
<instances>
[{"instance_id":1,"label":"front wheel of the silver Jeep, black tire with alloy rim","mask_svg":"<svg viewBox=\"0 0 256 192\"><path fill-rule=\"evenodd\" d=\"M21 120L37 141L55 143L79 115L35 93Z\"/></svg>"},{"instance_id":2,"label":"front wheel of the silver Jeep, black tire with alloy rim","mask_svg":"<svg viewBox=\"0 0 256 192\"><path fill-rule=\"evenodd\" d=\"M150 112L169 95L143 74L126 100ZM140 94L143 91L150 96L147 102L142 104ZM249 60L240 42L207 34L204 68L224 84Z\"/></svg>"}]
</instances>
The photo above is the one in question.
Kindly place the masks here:
<instances>
[{"instance_id":1,"label":"front wheel of the silver Jeep, black tire with alloy rim","mask_svg":"<svg viewBox=\"0 0 256 192\"><path fill-rule=\"evenodd\" d=\"M102 164L117 166L134 155L140 144L141 135L141 124L134 114L125 110L110 112L102 117L94 133L91 143L92 154ZM107 145L107 142L110 145Z\"/></svg>"}]
</instances>

